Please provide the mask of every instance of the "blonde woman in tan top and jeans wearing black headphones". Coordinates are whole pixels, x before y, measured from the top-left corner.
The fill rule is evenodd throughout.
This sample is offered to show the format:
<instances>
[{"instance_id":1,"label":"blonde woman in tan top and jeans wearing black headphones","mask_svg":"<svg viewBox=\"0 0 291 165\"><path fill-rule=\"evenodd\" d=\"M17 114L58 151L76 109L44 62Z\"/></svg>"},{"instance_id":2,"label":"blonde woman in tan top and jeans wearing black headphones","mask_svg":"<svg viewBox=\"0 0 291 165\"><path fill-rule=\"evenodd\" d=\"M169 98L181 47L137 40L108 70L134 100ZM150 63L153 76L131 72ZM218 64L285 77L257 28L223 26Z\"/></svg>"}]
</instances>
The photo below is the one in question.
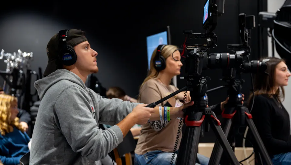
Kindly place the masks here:
<instances>
[{"instance_id":1,"label":"blonde woman in tan top and jeans wearing black headphones","mask_svg":"<svg viewBox=\"0 0 291 165\"><path fill-rule=\"evenodd\" d=\"M138 101L140 103L150 104L164 98L178 90L170 85L171 79L180 74L182 66L181 55L178 48L174 45L159 45L152 54L150 61L149 76L142 83L139 91ZM185 94L184 94L185 93ZM185 96L185 99L184 99ZM188 92L181 92L176 96L164 101L159 106L179 107L182 105L180 100L185 103L191 101ZM212 106L216 114L221 114L223 105L227 100ZM164 109L160 109L162 112ZM142 125L138 143L135 148L135 164L169 165L175 163L177 154L174 154L174 148L179 150L182 137L181 128L182 119L170 118L169 120L151 121ZM177 137L179 130L180 136ZM176 147L175 146L176 143ZM209 158L197 154L200 164L208 164ZM198 163L196 163L198 164Z\"/></svg>"}]
</instances>

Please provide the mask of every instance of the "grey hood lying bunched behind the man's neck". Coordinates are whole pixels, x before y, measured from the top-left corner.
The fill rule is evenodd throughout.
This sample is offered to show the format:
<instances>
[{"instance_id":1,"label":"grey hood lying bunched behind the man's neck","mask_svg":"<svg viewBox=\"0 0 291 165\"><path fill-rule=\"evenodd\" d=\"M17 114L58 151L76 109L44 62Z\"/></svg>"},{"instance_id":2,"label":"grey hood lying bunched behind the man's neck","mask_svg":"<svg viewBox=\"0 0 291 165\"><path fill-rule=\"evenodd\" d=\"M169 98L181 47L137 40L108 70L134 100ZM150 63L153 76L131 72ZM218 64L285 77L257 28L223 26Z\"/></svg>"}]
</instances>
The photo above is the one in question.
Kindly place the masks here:
<instances>
[{"instance_id":1,"label":"grey hood lying bunched behind the man's neck","mask_svg":"<svg viewBox=\"0 0 291 165\"><path fill-rule=\"evenodd\" d=\"M48 76L35 81L34 87L37 90L39 98L42 99L46 91L55 83L61 80L69 80L71 82L78 84L83 89L86 89L86 86L82 79L80 79L80 77L77 76L75 73L66 69L58 69L55 72L49 74Z\"/></svg>"}]
</instances>

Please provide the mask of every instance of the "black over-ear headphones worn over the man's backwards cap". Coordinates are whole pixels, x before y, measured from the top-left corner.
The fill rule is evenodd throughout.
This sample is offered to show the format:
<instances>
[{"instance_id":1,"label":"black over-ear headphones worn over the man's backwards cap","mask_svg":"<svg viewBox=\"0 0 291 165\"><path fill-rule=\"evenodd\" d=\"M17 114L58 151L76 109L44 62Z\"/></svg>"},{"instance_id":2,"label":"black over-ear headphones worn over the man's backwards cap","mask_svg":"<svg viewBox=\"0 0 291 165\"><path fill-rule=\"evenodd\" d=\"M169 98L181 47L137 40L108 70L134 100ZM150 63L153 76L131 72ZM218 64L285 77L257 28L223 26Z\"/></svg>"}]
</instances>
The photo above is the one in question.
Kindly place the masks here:
<instances>
[{"instance_id":1,"label":"black over-ear headphones worn over the man's backwards cap","mask_svg":"<svg viewBox=\"0 0 291 165\"><path fill-rule=\"evenodd\" d=\"M67 45L67 30L59 31L59 58L63 65L71 66L77 61L77 55L72 46Z\"/></svg>"}]
</instances>

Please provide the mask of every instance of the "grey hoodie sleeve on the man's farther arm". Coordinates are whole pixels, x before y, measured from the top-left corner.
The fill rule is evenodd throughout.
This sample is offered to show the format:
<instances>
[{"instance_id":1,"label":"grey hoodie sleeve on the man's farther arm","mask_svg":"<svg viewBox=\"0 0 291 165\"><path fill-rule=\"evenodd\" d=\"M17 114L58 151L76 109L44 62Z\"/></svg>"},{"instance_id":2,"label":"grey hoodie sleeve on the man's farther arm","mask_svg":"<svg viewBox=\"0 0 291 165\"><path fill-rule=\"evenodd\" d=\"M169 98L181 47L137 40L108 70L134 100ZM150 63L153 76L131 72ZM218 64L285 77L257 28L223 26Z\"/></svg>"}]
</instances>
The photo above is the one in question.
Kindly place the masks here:
<instances>
[{"instance_id":1,"label":"grey hoodie sleeve on the man's farther arm","mask_svg":"<svg viewBox=\"0 0 291 165\"><path fill-rule=\"evenodd\" d=\"M96 94L97 95L97 94ZM131 103L122 99L106 99L97 95L99 103L99 120L102 124L114 125L125 118L140 103Z\"/></svg>"}]
</instances>

